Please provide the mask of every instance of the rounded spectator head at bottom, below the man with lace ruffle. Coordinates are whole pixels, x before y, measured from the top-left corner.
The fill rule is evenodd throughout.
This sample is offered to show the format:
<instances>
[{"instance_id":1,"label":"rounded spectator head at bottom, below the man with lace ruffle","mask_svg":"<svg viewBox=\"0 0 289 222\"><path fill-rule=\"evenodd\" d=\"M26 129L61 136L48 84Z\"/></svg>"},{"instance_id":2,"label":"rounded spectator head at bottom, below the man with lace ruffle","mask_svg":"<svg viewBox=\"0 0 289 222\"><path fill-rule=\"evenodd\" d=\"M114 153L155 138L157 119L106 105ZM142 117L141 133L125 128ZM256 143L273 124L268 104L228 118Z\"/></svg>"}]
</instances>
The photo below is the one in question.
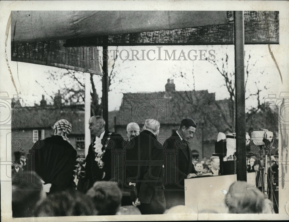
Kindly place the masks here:
<instances>
[{"instance_id":1,"label":"rounded spectator head at bottom, below the man with lace ruffle","mask_svg":"<svg viewBox=\"0 0 289 222\"><path fill-rule=\"evenodd\" d=\"M98 215L115 215L121 205L122 193L111 181L98 181L86 195L92 198Z\"/></svg>"}]
</instances>

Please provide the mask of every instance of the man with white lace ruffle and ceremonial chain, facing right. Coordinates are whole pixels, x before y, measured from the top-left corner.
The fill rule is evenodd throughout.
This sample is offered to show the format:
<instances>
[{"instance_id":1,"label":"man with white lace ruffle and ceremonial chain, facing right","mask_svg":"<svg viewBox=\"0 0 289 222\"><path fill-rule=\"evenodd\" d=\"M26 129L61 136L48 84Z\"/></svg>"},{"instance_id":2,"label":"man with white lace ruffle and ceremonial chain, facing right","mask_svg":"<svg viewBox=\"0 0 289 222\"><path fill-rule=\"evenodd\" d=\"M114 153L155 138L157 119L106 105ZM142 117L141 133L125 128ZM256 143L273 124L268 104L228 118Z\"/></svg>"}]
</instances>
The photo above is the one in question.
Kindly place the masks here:
<instances>
[{"instance_id":1,"label":"man with white lace ruffle and ceremonial chain, facing right","mask_svg":"<svg viewBox=\"0 0 289 222\"><path fill-rule=\"evenodd\" d=\"M85 179L87 188L93 186L96 181L109 181L114 174L112 163L112 151L119 150L123 137L119 134L104 130L105 121L101 116L92 116L89 120L90 134L95 136L94 141L88 148L85 164Z\"/></svg>"}]
</instances>

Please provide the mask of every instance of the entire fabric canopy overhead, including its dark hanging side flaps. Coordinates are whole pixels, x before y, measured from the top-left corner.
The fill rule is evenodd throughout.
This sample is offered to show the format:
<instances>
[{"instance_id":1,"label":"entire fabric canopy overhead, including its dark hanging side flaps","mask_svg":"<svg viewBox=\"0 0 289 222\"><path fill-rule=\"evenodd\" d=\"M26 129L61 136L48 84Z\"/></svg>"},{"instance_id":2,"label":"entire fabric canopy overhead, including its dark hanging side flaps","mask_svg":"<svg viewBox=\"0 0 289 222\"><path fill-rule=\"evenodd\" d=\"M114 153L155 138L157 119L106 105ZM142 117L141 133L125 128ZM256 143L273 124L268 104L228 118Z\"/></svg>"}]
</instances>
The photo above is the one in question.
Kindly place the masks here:
<instances>
[{"instance_id":1,"label":"entire fabric canopy overhead, including its dark hanging side flaps","mask_svg":"<svg viewBox=\"0 0 289 222\"><path fill-rule=\"evenodd\" d=\"M103 75L80 46L234 44L231 11L12 11L11 60ZM265 22L264 22L265 21ZM279 12L244 12L245 44L278 44ZM89 52L89 49L86 49Z\"/></svg>"}]
</instances>

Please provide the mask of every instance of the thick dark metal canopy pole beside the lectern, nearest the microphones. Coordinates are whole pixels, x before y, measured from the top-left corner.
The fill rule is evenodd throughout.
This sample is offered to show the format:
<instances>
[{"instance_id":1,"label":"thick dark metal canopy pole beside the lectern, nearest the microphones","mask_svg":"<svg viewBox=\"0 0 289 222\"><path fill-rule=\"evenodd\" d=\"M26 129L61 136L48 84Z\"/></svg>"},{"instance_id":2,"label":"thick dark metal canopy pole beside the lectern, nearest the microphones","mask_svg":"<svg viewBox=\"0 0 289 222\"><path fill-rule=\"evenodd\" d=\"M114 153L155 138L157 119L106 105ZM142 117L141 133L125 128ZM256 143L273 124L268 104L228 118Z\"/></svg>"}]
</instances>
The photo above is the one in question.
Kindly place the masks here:
<instances>
[{"instance_id":1,"label":"thick dark metal canopy pole beside the lectern, nearest the microphones","mask_svg":"<svg viewBox=\"0 0 289 222\"><path fill-rule=\"evenodd\" d=\"M247 181L243 11L234 11L234 45L237 180Z\"/></svg>"}]
</instances>

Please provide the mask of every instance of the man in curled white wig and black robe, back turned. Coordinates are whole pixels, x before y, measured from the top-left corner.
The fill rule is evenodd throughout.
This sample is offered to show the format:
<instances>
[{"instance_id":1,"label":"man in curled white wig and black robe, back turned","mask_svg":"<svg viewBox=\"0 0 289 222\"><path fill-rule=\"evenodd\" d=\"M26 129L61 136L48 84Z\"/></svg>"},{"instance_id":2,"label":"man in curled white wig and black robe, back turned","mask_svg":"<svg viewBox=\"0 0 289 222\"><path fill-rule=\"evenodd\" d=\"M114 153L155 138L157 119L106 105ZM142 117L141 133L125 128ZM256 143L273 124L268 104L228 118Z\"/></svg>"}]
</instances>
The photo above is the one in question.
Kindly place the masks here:
<instances>
[{"instance_id":1,"label":"man in curled white wig and black robe, back turned","mask_svg":"<svg viewBox=\"0 0 289 222\"><path fill-rule=\"evenodd\" d=\"M71 123L67 120L58 120L53 126L54 135L44 140L39 139L32 147L32 170L42 178L45 187L48 187L46 192L57 192L73 186L77 152L67 138L71 128Z\"/></svg>"}]
</instances>

